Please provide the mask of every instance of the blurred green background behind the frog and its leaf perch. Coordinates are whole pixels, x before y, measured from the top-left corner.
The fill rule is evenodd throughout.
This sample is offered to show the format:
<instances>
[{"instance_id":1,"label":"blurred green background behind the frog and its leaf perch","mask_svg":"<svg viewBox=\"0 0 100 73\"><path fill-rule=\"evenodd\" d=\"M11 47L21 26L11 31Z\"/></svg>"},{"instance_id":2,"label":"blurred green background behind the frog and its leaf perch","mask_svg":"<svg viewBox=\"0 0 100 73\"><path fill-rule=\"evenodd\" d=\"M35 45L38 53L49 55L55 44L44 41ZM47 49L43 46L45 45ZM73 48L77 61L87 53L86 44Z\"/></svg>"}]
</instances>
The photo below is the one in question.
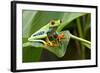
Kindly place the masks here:
<instances>
[{"instance_id":1,"label":"blurred green background behind the frog and its leaf perch","mask_svg":"<svg viewBox=\"0 0 100 73\"><path fill-rule=\"evenodd\" d=\"M62 20L62 25L58 30L69 30L73 35L91 41L91 14L83 12L54 12L54 11L32 11L22 12L22 43L28 42L28 38L50 20ZM90 59L91 50L84 46L82 42L70 39L65 54L62 57L55 55L44 48L27 46L22 48L23 63L42 61L62 61L62 60L84 60Z\"/></svg>"}]
</instances>

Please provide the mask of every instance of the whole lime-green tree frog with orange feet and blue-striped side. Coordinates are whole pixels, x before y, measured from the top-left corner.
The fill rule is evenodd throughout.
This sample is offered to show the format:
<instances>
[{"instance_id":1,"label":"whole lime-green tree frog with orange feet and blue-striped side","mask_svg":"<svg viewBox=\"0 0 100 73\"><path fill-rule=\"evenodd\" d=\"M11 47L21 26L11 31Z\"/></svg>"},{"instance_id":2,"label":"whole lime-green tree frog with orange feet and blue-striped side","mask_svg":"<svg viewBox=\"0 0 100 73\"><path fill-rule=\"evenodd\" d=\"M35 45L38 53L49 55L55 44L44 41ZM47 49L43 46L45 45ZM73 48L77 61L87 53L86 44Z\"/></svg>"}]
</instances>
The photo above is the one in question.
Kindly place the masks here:
<instances>
[{"instance_id":1,"label":"whole lime-green tree frog with orange feet and blue-striped side","mask_svg":"<svg viewBox=\"0 0 100 73\"><path fill-rule=\"evenodd\" d=\"M53 43L50 39L56 39L60 41L64 37L63 33L59 34L56 31L59 25L61 25L61 20L51 20L47 25L33 33L28 38L28 41L41 42L44 45L55 46L56 44Z\"/></svg>"}]
</instances>

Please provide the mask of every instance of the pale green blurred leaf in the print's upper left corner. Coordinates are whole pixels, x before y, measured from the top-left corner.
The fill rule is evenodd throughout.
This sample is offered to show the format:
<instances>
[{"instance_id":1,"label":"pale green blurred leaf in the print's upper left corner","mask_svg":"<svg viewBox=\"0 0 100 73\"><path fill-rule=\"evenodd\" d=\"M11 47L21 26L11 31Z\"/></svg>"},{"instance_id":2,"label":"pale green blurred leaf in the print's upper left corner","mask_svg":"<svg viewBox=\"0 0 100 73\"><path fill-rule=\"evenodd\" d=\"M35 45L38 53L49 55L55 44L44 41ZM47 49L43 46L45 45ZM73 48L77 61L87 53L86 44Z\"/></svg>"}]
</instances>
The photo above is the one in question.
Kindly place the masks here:
<instances>
[{"instance_id":1,"label":"pale green blurred leaf in the print's upper left corner","mask_svg":"<svg viewBox=\"0 0 100 73\"><path fill-rule=\"evenodd\" d=\"M37 11L27 11L23 10L23 20L22 20L22 35L23 38L27 38L30 35L31 27L32 27L32 21L34 17L36 16Z\"/></svg>"}]
</instances>

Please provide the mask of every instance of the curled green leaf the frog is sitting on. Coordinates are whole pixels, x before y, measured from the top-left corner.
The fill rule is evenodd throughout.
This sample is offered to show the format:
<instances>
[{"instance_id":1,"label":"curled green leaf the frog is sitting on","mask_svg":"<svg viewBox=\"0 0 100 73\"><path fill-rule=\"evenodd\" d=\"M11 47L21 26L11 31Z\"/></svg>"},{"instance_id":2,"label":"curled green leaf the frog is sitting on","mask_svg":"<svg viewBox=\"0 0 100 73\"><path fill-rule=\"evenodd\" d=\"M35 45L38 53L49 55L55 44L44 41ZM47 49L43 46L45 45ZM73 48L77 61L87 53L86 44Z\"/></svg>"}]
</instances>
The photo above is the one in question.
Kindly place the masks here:
<instances>
[{"instance_id":1,"label":"curled green leaf the frog is sitting on","mask_svg":"<svg viewBox=\"0 0 100 73\"><path fill-rule=\"evenodd\" d=\"M69 35L69 31L63 31L60 33L64 33L64 39L61 40L61 42L57 43L57 46L45 46L42 43L32 43L32 42L27 42L24 43L23 46L33 46L33 47L37 47L37 48L44 48L50 52L52 52L53 54L55 54L57 57L63 57L66 53L67 50L67 46L70 40L70 35ZM35 49L37 49L35 48Z\"/></svg>"}]
</instances>

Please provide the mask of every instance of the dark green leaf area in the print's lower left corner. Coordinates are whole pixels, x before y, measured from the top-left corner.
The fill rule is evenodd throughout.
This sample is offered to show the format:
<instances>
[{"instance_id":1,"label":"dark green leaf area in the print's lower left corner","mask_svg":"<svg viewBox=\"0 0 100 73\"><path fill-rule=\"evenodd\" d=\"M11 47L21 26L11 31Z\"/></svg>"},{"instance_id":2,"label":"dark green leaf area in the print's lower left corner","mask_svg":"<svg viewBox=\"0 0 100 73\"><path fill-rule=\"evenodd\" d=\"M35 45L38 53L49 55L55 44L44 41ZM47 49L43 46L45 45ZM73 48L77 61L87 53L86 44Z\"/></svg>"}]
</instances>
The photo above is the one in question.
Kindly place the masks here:
<instances>
[{"instance_id":1,"label":"dark green leaf area in the print's lower left corner","mask_svg":"<svg viewBox=\"0 0 100 73\"><path fill-rule=\"evenodd\" d=\"M38 62L40 61L42 48L27 46L23 48L23 62Z\"/></svg>"}]
</instances>

